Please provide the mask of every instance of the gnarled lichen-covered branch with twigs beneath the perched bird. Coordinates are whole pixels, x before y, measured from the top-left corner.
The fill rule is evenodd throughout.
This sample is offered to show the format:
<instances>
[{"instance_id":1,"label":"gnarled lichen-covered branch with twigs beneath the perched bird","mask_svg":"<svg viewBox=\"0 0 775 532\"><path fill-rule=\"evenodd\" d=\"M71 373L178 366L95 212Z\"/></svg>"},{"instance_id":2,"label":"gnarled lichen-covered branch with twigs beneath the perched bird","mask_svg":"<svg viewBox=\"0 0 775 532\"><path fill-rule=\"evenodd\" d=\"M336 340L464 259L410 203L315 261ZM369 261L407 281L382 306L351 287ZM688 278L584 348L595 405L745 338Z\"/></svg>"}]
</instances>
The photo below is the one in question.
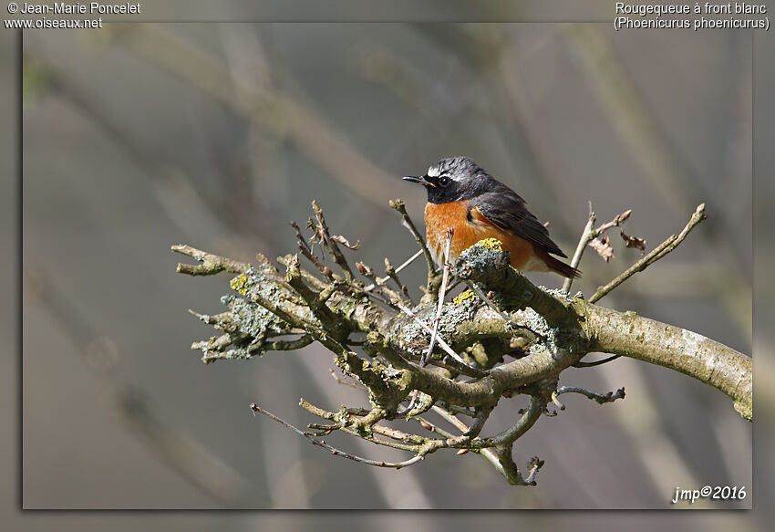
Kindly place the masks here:
<instances>
[{"instance_id":1,"label":"gnarled lichen-covered branch with twigs beneath the perched bird","mask_svg":"<svg viewBox=\"0 0 775 532\"><path fill-rule=\"evenodd\" d=\"M333 353L339 370L367 391L371 404L367 410L342 407L332 412L302 401L307 412L326 420L310 423L309 428L315 431L310 433L253 406L253 412L283 423L334 454L398 469L418 464L443 449L471 451L485 457L511 485L533 485L542 461L533 458L522 475L512 452L516 441L542 413L556 414L547 411L547 404L561 406L557 396L571 391L600 403L624 397L624 390L603 395L573 386L558 388L563 370L578 365L590 352L645 360L686 373L728 394L738 412L746 419L752 417L750 359L734 349L633 312L598 307L582 297L568 297L561 290L536 287L510 266L508 252L502 251L497 241L482 241L460 255L455 270L472 291L447 303L439 298L435 305L424 297L418 306L409 307L408 297L402 302L398 292L377 282L368 266L358 263L356 269L374 281L373 288L365 288L356 279L356 271L338 244L350 249L357 245L349 245L343 236L332 236L323 210L315 203L313 208L310 242L322 246L322 257L312 253L294 224L299 249L311 270L298 256L278 259L285 268L282 274L261 255L250 266L186 245L172 249L202 263L181 264L181 273L238 274L230 283L233 293L222 297L227 311L194 313L219 331L217 336L193 344L194 349L202 350L205 362L301 349L316 341ZM406 210L399 212L408 219ZM696 215L702 215L701 210ZM413 226L410 221L408 225ZM680 244L690 229L687 225L681 235L671 237L673 240L659 247L656 258L648 264ZM424 246L416 236L418 245ZM341 275L323 264L326 254ZM438 290L434 283L441 277L432 261L427 266L426 296ZM389 266L387 270L387 278L393 278L403 293L396 272ZM429 366L423 367L426 357ZM522 417L511 427L488 434L491 412L508 408L510 398L522 396L528 402ZM408 406L402 407L402 403ZM460 433L445 432L419 417L426 412L452 419ZM460 422L457 415L470 416L472 422ZM384 424L398 417L417 419L418 431L399 431ZM396 463L362 459L320 440L334 431L412 456Z\"/></svg>"}]
</instances>

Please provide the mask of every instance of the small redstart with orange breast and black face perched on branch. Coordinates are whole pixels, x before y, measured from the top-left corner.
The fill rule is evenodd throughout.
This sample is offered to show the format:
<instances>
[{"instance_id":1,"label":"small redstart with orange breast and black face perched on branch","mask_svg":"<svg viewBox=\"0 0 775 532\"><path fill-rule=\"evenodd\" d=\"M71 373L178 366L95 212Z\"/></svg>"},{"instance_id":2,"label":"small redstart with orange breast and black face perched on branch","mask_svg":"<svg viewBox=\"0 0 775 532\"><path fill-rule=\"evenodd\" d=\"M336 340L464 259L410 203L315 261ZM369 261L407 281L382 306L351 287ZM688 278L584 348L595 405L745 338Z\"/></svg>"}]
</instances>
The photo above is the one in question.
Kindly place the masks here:
<instances>
[{"instance_id":1,"label":"small redstart with orange breast and black face perched on branch","mask_svg":"<svg viewBox=\"0 0 775 532\"><path fill-rule=\"evenodd\" d=\"M469 157L442 159L425 175L407 176L428 191L425 229L428 248L443 264L447 229L453 230L450 258L484 238L497 238L520 271L554 272L578 277L578 269L553 257L567 258L549 231L527 210L522 197L493 178Z\"/></svg>"}]
</instances>

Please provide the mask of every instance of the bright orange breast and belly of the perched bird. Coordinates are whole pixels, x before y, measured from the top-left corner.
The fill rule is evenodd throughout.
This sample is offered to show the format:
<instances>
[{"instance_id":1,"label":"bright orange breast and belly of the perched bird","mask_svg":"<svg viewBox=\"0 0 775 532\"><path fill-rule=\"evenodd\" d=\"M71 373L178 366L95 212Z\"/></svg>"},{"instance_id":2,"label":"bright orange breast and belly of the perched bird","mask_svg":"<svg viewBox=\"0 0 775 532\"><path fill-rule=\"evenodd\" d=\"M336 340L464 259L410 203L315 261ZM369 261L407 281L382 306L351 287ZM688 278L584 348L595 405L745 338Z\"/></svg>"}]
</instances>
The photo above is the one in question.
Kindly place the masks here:
<instances>
[{"instance_id":1,"label":"bright orange breast and belly of the perched bird","mask_svg":"<svg viewBox=\"0 0 775 532\"><path fill-rule=\"evenodd\" d=\"M535 255L533 245L519 236L502 230L480 214L479 210L471 210L468 218L468 202L451 202L425 206L425 228L428 248L436 264L444 263L444 245L447 229L454 230L449 255L452 261L471 245L484 238L497 238L503 249L511 253L511 266L521 271L548 271L543 261Z\"/></svg>"}]
</instances>

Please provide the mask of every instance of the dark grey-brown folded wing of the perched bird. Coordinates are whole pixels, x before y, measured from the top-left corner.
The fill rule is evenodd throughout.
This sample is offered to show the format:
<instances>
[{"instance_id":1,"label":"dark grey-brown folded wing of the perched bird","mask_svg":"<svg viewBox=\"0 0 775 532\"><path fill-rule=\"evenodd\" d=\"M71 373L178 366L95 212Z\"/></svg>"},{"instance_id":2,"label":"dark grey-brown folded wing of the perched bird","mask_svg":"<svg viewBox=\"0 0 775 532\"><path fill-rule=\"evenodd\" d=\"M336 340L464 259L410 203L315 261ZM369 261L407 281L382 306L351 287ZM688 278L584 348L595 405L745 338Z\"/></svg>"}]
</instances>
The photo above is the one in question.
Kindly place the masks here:
<instances>
[{"instance_id":1,"label":"dark grey-brown folded wing of the perched bird","mask_svg":"<svg viewBox=\"0 0 775 532\"><path fill-rule=\"evenodd\" d=\"M538 219L527 210L525 201L509 187L502 185L498 192L483 193L469 202L469 210L476 208L492 224L538 245L557 256L566 255L554 244Z\"/></svg>"}]
</instances>

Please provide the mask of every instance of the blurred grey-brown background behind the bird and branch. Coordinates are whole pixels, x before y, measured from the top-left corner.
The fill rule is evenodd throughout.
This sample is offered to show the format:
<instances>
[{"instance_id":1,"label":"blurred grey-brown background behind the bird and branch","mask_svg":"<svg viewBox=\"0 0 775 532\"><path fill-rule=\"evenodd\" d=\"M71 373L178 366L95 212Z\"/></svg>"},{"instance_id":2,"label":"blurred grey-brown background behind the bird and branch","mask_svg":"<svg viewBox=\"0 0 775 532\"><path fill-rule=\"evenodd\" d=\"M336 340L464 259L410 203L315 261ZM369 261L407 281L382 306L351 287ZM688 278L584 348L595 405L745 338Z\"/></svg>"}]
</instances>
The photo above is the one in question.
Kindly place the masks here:
<instances>
[{"instance_id":1,"label":"blurred grey-brown background behind the bird and branch","mask_svg":"<svg viewBox=\"0 0 775 532\"><path fill-rule=\"evenodd\" d=\"M707 203L676 252L602 303L750 353L752 36L609 26L27 33L24 506L667 508L677 486L751 485L751 424L728 398L635 360L563 373L627 397L566 396L518 442L519 462L546 465L538 486L515 488L475 454L377 470L253 418L250 402L297 426L316 421L299 397L366 402L331 379L318 346L208 366L189 349L212 329L186 309L222 311L229 276L176 275L170 245L292 253L287 222L303 224L315 199L367 264L399 264L415 247L387 201L405 199L418 223L425 203L400 176L466 154L521 193L568 255L588 201L601 222L632 208L625 231L648 249ZM640 257L611 236L615 259L589 250L574 289L590 295ZM403 280L417 287L423 267Z\"/></svg>"}]
</instances>

